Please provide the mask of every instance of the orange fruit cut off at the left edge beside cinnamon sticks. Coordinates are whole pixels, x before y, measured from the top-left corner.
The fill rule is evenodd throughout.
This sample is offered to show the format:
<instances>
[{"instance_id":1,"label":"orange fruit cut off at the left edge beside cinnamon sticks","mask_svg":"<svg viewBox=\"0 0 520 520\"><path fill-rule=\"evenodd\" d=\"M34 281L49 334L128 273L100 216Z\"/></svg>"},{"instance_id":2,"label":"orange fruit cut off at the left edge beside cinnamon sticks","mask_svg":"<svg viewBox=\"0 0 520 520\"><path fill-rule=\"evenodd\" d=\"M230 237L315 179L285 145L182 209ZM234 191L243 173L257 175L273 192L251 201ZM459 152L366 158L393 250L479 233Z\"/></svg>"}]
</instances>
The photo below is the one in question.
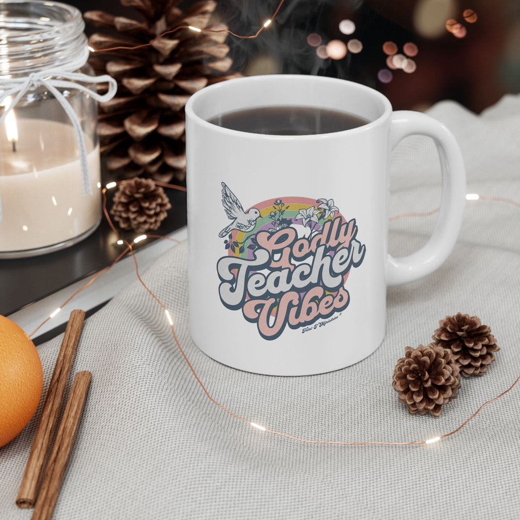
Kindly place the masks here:
<instances>
[{"instance_id":1,"label":"orange fruit cut off at the left edge beside cinnamon sticks","mask_svg":"<svg viewBox=\"0 0 520 520\"><path fill-rule=\"evenodd\" d=\"M42 396L42 362L20 327L0 316L0 447L31 420Z\"/></svg>"}]
</instances>

